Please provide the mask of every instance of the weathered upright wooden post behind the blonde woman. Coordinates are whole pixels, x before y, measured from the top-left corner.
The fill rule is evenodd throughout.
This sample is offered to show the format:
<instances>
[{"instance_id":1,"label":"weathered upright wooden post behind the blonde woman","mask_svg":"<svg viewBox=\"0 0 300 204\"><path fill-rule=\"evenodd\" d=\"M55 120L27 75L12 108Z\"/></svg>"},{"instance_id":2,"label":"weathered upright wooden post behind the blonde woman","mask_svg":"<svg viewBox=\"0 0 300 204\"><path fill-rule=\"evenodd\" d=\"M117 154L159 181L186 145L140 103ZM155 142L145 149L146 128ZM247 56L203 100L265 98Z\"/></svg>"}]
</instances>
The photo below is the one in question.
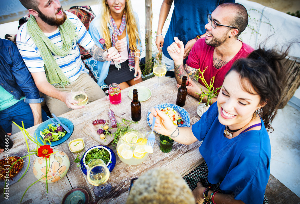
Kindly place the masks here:
<instances>
[{"instance_id":1,"label":"weathered upright wooden post behind the blonde woman","mask_svg":"<svg viewBox=\"0 0 300 204\"><path fill-rule=\"evenodd\" d=\"M145 0L145 8L146 8L146 67L151 66L152 59L152 0Z\"/></svg>"}]
</instances>

